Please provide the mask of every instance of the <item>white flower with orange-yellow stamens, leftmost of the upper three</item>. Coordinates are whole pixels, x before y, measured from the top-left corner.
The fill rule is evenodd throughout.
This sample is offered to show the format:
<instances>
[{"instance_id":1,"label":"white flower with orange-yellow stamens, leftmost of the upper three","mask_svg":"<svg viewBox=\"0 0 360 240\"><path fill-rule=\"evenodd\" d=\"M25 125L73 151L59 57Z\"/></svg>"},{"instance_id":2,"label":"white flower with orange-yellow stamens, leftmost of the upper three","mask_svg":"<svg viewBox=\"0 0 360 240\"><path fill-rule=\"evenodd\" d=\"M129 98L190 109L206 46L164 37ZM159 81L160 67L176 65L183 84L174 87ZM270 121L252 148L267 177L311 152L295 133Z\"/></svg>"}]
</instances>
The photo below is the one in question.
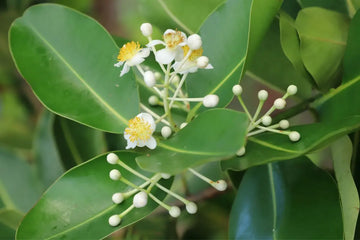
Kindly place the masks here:
<instances>
[{"instance_id":1,"label":"white flower with orange-yellow stamens, leftmost of the upper three","mask_svg":"<svg viewBox=\"0 0 360 240\"><path fill-rule=\"evenodd\" d=\"M124 44L119 51L117 57L118 62L114 64L115 67L124 67L120 73L120 77L130 70L130 67L139 65L150 54L149 48L141 48L138 42L128 42Z\"/></svg>"}]
</instances>

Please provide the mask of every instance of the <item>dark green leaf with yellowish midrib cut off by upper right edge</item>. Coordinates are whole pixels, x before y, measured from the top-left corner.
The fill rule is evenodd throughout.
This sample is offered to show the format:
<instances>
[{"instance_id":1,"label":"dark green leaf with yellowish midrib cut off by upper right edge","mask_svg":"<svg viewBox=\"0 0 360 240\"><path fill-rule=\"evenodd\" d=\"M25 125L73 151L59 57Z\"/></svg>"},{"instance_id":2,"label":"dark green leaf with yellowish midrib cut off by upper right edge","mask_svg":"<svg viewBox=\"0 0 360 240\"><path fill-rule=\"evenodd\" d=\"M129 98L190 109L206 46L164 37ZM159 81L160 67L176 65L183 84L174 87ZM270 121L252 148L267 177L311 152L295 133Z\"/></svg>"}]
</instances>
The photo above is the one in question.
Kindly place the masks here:
<instances>
[{"instance_id":1,"label":"dark green leaf with yellowish midrib cut off by upper right edge","mask_svg":"<svg viewBox=\"0 0 360 240\"><path fill-rule=\"evenodd\" d=\"M328 92L314 107L318 109L323 121L342 119L360 115L360 108L354 103L360 102L360 13L350 24L349 38L344 56L344 76L341 86Z\"/></svg>"}]
</instances>

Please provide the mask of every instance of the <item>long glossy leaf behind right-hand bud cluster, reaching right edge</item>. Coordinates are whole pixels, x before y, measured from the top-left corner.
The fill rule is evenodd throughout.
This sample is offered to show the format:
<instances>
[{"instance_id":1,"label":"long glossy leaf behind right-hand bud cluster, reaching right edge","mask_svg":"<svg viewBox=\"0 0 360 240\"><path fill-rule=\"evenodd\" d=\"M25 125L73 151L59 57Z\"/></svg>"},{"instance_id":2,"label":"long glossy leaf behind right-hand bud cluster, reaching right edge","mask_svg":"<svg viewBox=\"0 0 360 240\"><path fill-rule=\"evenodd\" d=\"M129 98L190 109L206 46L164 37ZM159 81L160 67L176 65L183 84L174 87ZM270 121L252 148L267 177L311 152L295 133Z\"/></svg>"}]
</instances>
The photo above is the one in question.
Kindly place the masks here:
<instances>
[{"instance_id":1,"label":"long glossy leaf behind right-hand bud cluster, reaching right edge","mask_svg":"<svg viewBox=\"0 0 360 240\"><path fill-rule=\"evenodd\" d=\"M244 156L222 161L221 165L223 170L244 170L274 161L296 158L358 128L360 116L290 127L291 131L301 134L301 139L296 143L291 142L285 135L264 133L248 139Z\"/></svg>"}]
</instances>

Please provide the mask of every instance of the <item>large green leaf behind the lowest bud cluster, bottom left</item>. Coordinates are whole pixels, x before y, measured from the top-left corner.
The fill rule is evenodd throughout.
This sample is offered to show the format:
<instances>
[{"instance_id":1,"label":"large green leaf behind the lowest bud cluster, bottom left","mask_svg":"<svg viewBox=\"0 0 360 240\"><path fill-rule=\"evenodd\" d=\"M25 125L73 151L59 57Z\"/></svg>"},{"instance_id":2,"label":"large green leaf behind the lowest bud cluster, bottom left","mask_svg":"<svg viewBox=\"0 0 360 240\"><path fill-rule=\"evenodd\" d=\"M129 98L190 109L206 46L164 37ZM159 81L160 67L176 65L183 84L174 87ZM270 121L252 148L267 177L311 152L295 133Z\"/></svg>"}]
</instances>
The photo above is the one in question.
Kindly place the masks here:
<instances>
[{"instance_id":1,"label":"large green leaf behind the lowest bud cluster, bottom left","mask_svg":"<svg viewBox=\"0 0 360 240\"><path fill-rule=\"evenodd\" d=\"M116 154L128 166L150 175L137 167L134 158L138 154ZM108 164L106 155L102 155L66 172L25 216L18 228L17 239L102 239L150 214L158 205L149 198L146 207L133 209L123 217L118 227L109 225L110 216L122 213L132 204L132 197L119 205L112 202L112 194L131 189L109 178L109 171L114 168L120 169ZM136 185L143 182L125 169L120 171L123 177ZM160 181L167 188L171 182ZM156 187L152 193L160 200L166 195Z\"/></svg>"}]
</instances>

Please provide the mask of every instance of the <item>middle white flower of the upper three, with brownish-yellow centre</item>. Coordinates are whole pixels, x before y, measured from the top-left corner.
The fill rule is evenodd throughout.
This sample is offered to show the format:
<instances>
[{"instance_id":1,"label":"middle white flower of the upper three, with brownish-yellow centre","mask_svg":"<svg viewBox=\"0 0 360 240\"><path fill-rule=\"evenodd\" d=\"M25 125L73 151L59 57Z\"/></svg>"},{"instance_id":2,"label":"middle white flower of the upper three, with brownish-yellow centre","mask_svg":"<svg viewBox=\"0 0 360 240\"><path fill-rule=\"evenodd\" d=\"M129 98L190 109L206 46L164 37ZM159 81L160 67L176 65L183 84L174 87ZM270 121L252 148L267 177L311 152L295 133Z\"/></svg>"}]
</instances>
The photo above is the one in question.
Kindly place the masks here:
<instances>
[{"instance_id":1,"label":"middle white flower of the upper three, with brownish-yellow centre","mask_svg":"<svg viewBox=\"0 0 360 240\"><path fill-rule=\"evenodd\" d=\"M182 57L182 46L186 45L186 35L183 32L168 29L163 35L164 41L153 40L146 46L153 47L158 44L162 44L165 48L156 52L155 58L158 63L169 64L174 59Z\"/></svg>"}]
</instances>

